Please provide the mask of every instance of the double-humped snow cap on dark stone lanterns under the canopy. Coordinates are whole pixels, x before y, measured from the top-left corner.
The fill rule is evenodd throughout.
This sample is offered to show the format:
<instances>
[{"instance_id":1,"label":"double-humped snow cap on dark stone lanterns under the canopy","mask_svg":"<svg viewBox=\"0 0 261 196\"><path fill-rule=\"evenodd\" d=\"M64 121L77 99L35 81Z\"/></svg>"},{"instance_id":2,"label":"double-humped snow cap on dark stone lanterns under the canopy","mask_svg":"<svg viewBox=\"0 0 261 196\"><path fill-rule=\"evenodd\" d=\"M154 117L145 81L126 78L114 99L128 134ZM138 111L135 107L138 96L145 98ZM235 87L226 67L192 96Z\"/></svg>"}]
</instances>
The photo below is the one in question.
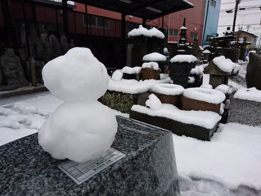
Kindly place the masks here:
<instances>
[{"instance_id":1,"label":"double-humped snow cap on dark stone lanterns under the canopy","mask_svg":"<svg viewBox=\"0 0 261 196\"><path fill-rule=\"evenodd\" d=\"M155 27L153 27L150 30L147 30L146 28L144 28L142 25L139 26L139 28L134 28L133 30L131 30L128 33L128 37L137 37L137 36L141 36L144 35L145 37L158 37L161 39L164 39L164 34L159 31L158 29L156 29Z\"/></svg>"}]
</instances>

